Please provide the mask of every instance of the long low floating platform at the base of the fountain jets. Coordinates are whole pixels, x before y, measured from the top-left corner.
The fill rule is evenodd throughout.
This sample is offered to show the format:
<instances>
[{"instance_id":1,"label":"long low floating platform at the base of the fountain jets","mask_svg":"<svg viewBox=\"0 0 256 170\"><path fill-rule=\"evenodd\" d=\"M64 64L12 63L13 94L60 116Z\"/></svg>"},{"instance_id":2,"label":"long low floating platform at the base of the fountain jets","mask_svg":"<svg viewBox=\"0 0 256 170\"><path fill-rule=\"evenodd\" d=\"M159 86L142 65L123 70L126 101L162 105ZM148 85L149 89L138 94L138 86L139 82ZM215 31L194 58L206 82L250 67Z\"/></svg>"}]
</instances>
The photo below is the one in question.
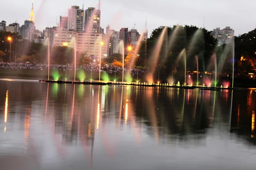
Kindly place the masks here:
<instances>
[{"instance_id":1,"label":"long low floating platform at the base of the fountain jets","mask_svg":"<svg viewBox=\"0 0 256 170\"><path fill-rule=\"evenodd\" d=\"M176 86L169 84L143 84L143 83L125 83L125 82L75 82L75 81L54 81L54 80L39 80L39 82L58 83L58 84L83 84L83 85L132 85L141 87L166 87L166 88L183 88L183 89L195 89L208 91L220 91L220 90L233 90L234 88L220 88L220 87L202 87L202 86Z\"/></svg>"}]
</instances>

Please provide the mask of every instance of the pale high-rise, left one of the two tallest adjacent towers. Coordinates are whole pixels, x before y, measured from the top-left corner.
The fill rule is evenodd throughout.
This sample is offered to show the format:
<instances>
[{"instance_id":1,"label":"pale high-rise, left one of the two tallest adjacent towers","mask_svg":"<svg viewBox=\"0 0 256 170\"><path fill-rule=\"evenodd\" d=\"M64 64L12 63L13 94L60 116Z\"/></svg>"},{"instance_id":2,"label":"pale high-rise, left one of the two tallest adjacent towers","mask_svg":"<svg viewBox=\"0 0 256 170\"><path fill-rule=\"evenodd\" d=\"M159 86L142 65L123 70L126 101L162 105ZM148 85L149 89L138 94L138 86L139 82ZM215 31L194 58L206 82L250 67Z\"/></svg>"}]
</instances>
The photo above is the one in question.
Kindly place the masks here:
<instances>
[{"instance_id":1,"label":"pale high-rise, left one of the two tallest adjacent towers","mask_svg":"<svg viewBox=\"0 0 256 170\"><path fill-rule=\"evenodd\" d=\"M79 9L79 6L71 6L71 9L68 9L67 29L77 32L83 32L84 10Z\"/></svg>"}]
</instances>

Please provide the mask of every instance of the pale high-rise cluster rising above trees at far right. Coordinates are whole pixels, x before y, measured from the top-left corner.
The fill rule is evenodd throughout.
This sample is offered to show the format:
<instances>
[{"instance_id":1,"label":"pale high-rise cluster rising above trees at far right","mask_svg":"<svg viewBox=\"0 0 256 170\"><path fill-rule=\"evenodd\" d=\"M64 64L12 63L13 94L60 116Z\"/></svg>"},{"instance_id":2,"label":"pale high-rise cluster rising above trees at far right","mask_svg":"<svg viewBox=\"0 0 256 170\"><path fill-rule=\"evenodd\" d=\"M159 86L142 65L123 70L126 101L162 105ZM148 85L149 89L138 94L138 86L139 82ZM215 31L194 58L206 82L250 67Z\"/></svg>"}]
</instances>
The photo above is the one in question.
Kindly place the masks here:
<instances>
[{"instance_id":1,"label":"pale high-rise cluster rising above trees at far right","mask_svg":"<svg viewBox=\"0 0 256 170\"><path fill-rule=\"evenodd\" d=\"M230 27L226 27L222 30L221 28L216 28L211 31L212 37L218 40L218 45L229 43L234 37L234 33L235 31Z\"/></svg>"}]
</instances>

